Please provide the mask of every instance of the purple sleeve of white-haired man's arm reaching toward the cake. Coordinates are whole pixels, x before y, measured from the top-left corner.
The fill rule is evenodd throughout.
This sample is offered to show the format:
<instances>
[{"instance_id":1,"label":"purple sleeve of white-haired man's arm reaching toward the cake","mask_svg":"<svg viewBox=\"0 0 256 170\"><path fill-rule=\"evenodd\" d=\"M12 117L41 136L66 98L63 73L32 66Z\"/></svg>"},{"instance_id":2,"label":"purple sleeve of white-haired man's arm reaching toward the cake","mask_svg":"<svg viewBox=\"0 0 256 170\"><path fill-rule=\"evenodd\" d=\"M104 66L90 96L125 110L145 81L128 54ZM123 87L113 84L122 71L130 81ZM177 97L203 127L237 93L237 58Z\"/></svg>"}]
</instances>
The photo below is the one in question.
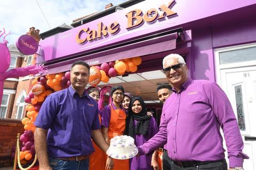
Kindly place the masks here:
<instances>
[{"instance_id":1,"label":"purple sleeve of white-haired man's arm reaching toward the cake","mask_svg":"<svg viewBox=\"0 0 256 170\"><path fill-rule=\"evenodd\" d=\"M154 131L157 131L157 125L155 123L156 129ZM144 144L140 145L138 147L139 154L148 154L150 152L155 151L159 147L162 147L166 142L167 142L167 124L166 124L166 119L165 119L165 114L164 114L164 109L163 109L163 114L161 116L161 123L159 126L159 131L151 137L150 140L145 142Z\"/></svg>"}]
</instances>

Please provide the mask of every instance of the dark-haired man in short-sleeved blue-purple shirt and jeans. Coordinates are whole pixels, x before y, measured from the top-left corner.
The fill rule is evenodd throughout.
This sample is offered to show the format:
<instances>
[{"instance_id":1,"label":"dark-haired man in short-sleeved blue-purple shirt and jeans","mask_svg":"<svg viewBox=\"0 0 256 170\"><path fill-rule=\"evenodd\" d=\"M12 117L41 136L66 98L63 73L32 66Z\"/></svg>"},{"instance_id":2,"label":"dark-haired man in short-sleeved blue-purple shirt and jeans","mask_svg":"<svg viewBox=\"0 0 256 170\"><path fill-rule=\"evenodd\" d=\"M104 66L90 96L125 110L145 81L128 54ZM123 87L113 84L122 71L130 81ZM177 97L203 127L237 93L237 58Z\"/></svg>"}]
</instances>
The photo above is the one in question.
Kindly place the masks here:
<instances>
[{"instance_id":1,"label":"dark-haired man in short-sleeved blue-purple shirt and jeans","mask_svg":"<svg viewBox=\"0 0 256 170\"><path fill-rule=\"evenodd\" d=\"M98 103L85 91L89 71L89 64L76 61L71 66L71 85L44 101L35 122L39 169L89 169L88 158L94 151L91 139L107 151L100 132ZM113 168L111 158L106 168Z\"/></svg>"}]
</instances>

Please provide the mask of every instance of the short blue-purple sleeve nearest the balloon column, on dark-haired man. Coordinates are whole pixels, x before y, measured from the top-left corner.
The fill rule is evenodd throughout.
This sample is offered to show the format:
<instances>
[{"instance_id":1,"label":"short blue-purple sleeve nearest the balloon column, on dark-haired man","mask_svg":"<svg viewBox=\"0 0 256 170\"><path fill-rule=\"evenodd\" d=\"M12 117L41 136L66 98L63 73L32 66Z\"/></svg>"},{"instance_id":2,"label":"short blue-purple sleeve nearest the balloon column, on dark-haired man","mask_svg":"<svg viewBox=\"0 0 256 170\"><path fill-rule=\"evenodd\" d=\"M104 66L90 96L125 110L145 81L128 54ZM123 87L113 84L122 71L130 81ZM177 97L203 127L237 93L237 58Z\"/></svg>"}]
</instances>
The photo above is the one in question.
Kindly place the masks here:
<instances>
[{"instance_id":1,"label":"short blue-purple sleeve nearest the balloon column, on dark-haired man","mask_svg":"<svg viewBox=\"0 0 256 170\"><path fill-rule=\"evenodd\" d=\"M58 114L58 98L53 95L47 96L36 117L34 125L43 129L49 129Z\"/></svg>"}]
</instances>

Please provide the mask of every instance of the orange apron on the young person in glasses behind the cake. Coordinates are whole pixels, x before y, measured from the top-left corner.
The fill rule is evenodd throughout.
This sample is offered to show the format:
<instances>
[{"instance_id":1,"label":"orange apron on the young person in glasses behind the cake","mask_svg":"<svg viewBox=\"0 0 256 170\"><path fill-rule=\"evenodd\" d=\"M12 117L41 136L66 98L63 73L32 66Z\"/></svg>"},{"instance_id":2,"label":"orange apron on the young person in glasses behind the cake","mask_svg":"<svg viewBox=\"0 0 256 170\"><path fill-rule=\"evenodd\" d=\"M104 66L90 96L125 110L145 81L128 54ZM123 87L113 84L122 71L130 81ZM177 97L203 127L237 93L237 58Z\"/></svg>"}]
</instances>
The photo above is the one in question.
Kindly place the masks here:
<instances>
[{"instance_id":1,"label":"orange apron on the young person in glasses behind the cake","mask_svg":"<svg viewBox=\"0 0 256 170\"><path fill-rule=\"evenodd\" d=\"M108 128L108 137L109 140L111 140L115 136L120 136L124 134L125 130L125 119L126 114L124 110L121 109L113 109L111 106L111 116L110 116L110 122L109 122L109 128ZM129 170L129 159L113 159L114 160L114 169L113 170Z\"/></svg>"}]
</instances>

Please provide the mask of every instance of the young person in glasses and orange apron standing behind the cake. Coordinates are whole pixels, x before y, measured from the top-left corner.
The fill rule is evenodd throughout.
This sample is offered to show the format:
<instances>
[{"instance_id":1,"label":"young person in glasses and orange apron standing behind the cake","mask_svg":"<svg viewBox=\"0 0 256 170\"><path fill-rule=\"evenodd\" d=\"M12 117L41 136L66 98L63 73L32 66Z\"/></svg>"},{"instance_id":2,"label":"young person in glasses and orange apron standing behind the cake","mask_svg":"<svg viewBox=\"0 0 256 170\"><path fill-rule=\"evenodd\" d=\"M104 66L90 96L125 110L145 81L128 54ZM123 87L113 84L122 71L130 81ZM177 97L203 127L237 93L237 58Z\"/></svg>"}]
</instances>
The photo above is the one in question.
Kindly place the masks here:
<instances>
[{"instance_id":1,"label":"young person in glasses and orange apron standing behind the cake","mask_svg":"<svg viewBox=\"0 0 256 170\"><path fill-rule=\"evenodd\" d=\"M101 115L102 134L110 144L110 140L115 136L124 134L126 112L123 109L124 88L114 86L111 88L112 102L103 108ZM129 159L114 159L114 170L129 170Z\"/></svg>"}]
</instances>

